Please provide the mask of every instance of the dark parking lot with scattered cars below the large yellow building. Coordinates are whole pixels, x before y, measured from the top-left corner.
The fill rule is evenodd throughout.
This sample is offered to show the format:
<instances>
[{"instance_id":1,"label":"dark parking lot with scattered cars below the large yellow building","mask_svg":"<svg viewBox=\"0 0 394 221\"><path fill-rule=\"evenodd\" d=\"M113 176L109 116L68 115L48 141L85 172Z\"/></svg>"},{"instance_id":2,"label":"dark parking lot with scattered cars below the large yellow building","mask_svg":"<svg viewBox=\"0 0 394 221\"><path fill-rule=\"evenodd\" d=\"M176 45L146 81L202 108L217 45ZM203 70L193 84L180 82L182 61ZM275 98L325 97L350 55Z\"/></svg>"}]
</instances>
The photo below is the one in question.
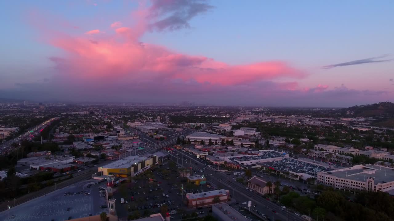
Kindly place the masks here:
<instances>
[{"instance_id":1,"label":"dark parking lot with scattered cars below the large yellow building","mask_svg":"<svg viewBox=\"0 0 394 221\"><path fill-rule=\"evenodd\" d=\"M119 218L127 218L128 215L140 214L147 217L149 214L159 213L162 207L166 206L167 211L177 211L171 214L172 219L180 219L182 214L192 211L182 203L182 179L178 174L179 167L169 167L168 164L161 168L156 168L152 172L136 177L131 184L121 184L114 193L115 208ZM183 200L186 200L186 193L205 192L210 190L206 186L195 186L184 182ZM125 203L121 203L121 198ZM203 215L209 209L202 208L198 212ZM181 214L179 212L181 211Z\"/></svg>"}]
</instances>

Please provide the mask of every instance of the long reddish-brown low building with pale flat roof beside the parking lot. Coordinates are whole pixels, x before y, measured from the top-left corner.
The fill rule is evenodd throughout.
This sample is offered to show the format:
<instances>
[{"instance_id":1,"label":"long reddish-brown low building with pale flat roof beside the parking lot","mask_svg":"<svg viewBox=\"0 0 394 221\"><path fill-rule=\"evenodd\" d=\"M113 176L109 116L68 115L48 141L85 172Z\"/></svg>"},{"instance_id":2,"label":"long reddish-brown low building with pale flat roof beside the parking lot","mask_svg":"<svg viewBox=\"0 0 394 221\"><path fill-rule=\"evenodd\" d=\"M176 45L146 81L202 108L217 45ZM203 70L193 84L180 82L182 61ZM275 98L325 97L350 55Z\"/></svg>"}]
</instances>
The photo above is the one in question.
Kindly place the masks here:
<instances>
[{"instance_id":1,"label":"long reddish-brown low building with pale flat roof beside the parking lot","mask_svg":"<svg viewBox=\"0 0 394 221\"><path fill-rule=\"evenodd\" d=\"M228 190L212 190L203 193L187 193L187 206L189 208L198 208L210 206L215 203L225 203L229 200Z\"/></svg>"}]
</instances>

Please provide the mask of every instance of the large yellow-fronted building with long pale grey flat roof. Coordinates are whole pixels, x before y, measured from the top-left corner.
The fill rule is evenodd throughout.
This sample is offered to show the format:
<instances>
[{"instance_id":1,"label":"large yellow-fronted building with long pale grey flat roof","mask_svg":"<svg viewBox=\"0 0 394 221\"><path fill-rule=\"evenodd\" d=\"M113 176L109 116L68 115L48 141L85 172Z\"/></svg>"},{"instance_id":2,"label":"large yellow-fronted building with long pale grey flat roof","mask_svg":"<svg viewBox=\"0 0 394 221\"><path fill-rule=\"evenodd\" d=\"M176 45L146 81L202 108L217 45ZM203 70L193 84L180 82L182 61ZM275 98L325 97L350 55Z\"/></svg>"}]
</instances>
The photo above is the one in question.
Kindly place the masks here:
<instances>
[{"instance_id":1,"label":"large yellow-fronted building with long pale grey flat roof","mask_svg":"<svg viewBox=\"0 0 394 221\"><path fill-rule=\"evenodd\" d=\"M98 168L103 175L115 177L134 177L158 164L157 155L128 156Z\"/></svg>"}]
</instances>

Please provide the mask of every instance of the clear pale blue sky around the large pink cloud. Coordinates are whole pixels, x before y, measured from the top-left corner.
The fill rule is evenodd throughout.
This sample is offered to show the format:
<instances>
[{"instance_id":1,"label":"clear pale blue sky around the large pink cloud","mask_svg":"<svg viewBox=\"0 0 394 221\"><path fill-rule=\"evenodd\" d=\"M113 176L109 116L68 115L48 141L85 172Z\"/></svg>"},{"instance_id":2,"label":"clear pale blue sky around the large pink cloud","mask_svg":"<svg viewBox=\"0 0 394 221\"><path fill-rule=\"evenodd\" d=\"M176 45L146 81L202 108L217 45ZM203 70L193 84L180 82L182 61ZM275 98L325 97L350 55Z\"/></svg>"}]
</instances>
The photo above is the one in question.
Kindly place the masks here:
<instances>
[{"instance_id":1,"label":"clear pale blue sky around the large pink cloud","mask_svg":"<svg viewBox=\"0 0 394 221\"><path fill-rule=\"evenodd\" d=\"M217 0L206 3L214 7L189 20L191 28L146 31L140 41L165 46L177 53L206 56L229 65L284 61L309 73L297 79L299 88L322 84L334 89L344 84L355 90L386 88L384 90L389 93L394 91L389 82L394 78L394 61L329 70L320 68L385 54L388 54L387 59L394 58L391 55L394 49L393 1ZM67 30L67 34L78 36L92 29L107 33L115 21L133 26L135 21L131 13L137 7L136 1L110 0L0 2L0 25L6 33L0 37L3 57L0 73L6 79L0 83L0 89L51 77L53 72L37 72L52 66L48 57L64 54L63 49L42 39L42 31L32 25L32 12L38 12L53 23L61 21L78 26L78 29ZM60 31L62 28L58 26ZM293 80L280 77L275 81ZM379 97L375 99L378 101Z\"/></svg>"}]
</instances>

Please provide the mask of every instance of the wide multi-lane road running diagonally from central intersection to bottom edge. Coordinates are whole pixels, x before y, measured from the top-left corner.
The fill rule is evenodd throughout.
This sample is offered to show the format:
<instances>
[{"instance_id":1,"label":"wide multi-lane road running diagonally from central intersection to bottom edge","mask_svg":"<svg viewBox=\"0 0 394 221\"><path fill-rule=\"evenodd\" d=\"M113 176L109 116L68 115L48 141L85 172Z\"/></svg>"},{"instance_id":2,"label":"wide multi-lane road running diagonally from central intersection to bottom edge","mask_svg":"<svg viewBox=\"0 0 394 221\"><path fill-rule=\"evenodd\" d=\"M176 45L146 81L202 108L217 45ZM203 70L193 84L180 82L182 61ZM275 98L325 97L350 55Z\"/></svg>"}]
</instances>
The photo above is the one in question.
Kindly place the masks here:
<instances>
[{"instance_id":1,"label":"wide multi-lane road running diagonally from central intersection to bottom edge","mask_svg":"<svg viewBox=\"0 0 394 221\"><path fill-rule=\"evenodd\" d=\"M178 151L177 149L174 149L172 153L178 153L178 157L183 156L182 159L178 158L178 160L180 160L181 162L182 160L186 162L194 162L194 164L191 164L191 167L193 169L205 169L204 173L206 174L203 175L206 177L207 182L210 182L212 186L215 186L216 188L224 188L230 190L230 195L237 199L238 202L252 201L253 205L255 206L255 210L260 211L262 214L265 214L267 218L271 220L279 219L282 221L303 220L300 216L295 215L292 210L289 210L288 208L284 209L281 206L266 200L265 197L262 197L260 194L247 190L244 185L235 182L234 180L231 180L230 177L226 175L227 173L219 173L215 169L207 167L205 164L201 163L193 157L190 157L190 155L187 155L182 151ZM177 156L173 155L172 153L170 153L171 157L177 158Z\"/></svg>"}]
</instances>

